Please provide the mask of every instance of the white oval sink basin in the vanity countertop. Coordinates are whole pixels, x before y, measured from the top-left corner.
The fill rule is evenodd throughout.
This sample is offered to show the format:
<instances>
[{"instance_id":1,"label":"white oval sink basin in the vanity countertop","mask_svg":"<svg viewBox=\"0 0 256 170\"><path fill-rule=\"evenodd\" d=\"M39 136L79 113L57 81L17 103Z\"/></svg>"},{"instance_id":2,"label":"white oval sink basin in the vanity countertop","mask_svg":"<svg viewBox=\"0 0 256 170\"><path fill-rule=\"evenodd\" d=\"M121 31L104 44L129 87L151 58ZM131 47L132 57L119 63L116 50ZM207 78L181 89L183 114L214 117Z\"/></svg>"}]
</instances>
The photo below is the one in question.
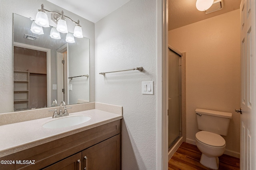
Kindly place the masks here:
<instances>
[{"instance_id":1,"label":"white oval sink basin in the vanity countertop","mask_svg":"<svg viewBox=\"0 0 256 170\"><path fill-rule=\"evenodd\" d=\"M49 121L43 125L44 128L54 129L60 127L69 127L74 125L79 125L86 121L89 121L91 118L88 116L78 115L78 116L69 116L57 118L53 121Z\"/></svg>"}]
</instances>

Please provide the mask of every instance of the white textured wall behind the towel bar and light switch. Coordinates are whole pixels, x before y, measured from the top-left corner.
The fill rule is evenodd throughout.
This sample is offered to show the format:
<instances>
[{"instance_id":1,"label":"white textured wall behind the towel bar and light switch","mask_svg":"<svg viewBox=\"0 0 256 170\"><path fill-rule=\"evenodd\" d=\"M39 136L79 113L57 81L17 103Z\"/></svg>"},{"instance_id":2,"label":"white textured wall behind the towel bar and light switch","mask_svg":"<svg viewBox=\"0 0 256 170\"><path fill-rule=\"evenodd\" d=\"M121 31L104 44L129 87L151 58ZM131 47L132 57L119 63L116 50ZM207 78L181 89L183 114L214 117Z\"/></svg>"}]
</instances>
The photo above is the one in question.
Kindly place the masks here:
<instances>
[{"instance_id":1,"label":"white textured wall behind the towel bar and light switch","mask_svg":"<svg viewBox=\"0 0 256 170\"><path fill-rule=\"evenodd\" d=\"M95 23L96 101L123 106L122 170L156 169L156 0L130 0ZM99 72L143 66L144 71ZM167 151L166 151L167 152Z\"/></svg>"}]
</instances>

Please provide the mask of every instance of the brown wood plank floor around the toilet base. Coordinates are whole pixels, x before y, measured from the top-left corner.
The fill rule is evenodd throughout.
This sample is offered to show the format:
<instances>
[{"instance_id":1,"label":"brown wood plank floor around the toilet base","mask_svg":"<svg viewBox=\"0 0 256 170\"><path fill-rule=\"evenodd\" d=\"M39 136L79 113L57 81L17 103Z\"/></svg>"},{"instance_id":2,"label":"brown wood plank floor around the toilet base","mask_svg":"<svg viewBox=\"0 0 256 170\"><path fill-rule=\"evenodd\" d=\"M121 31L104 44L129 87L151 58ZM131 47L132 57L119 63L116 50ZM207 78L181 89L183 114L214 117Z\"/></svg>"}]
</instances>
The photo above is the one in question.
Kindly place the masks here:
<instances>
[{"instance_id":1,"label":"brown wood plank floor around the toilet base","mask_svg":"<svg viewBox=\"0 0 256 170\"><path fill-rule=\"evenodd\" d=\"M196 145L183 142L168 162L168 170L211 170L200 164L201 152ZM240 159L219 156L219 170L240 170Z\"/></svg>"}]
</instances>

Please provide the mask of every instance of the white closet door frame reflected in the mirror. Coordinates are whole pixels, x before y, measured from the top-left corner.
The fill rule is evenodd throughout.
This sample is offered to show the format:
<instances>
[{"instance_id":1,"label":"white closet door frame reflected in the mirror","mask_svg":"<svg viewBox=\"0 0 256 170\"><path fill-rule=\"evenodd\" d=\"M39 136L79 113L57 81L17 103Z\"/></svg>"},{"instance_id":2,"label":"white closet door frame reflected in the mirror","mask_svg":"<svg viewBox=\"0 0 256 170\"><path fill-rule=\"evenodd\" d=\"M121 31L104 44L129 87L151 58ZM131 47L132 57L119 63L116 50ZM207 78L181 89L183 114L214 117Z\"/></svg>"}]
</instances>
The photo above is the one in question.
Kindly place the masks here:
<instances>
[{"instance_id":1,"label":"white closet door frame reflected in the mirror","mask_svg":"<svg viewBox=\"0 0 256 170\"><path fill-rule=\"evenodd\" d=\"M28 44L23 44L23 43L17 43L14 42L13 46L16 47L23 47L27 49L34 49L34 50L39 50L39 51L45 51L47 53L47 107L52 106L52 79L51 79L51 49L46 49L43 47L37 47L34 45L28 45Z\"/></svg>"}]
</instances>

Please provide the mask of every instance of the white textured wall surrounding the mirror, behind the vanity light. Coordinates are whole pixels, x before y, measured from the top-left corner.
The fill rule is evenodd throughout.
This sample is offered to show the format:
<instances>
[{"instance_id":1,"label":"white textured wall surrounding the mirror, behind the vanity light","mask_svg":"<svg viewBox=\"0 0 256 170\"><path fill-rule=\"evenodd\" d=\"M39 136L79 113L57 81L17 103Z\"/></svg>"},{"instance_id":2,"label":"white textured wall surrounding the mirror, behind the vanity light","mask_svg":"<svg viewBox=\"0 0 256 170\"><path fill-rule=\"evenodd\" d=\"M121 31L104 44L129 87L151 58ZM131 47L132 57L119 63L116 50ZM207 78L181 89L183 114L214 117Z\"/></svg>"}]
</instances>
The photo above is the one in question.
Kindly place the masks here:
<instances>
[{"instance_id":1,"label":"white textured wall surrounding the mirror, behind the vanity light","mask_svg":"<svg viewBox=\"0 0 256 170\"><path fill-rule=\"evenodd\" d=\"M81 18L67 10L64 10L46 0L0 0L0 113L13 111L13 59L12 59L12 21L13 13L34 17L38 9L44 4L44 8L50 11L64 11L66 16L73 20L80 20L84 37L90 39L90 102L95 101L95 77L94 77L94 23ZM71 23L71 22L70 22ZM73 24L68 24L68 27ZM71 26L71 27L72 27ZM71 29L70 29L71 30Z\"/></svg>"}]
</instances>

